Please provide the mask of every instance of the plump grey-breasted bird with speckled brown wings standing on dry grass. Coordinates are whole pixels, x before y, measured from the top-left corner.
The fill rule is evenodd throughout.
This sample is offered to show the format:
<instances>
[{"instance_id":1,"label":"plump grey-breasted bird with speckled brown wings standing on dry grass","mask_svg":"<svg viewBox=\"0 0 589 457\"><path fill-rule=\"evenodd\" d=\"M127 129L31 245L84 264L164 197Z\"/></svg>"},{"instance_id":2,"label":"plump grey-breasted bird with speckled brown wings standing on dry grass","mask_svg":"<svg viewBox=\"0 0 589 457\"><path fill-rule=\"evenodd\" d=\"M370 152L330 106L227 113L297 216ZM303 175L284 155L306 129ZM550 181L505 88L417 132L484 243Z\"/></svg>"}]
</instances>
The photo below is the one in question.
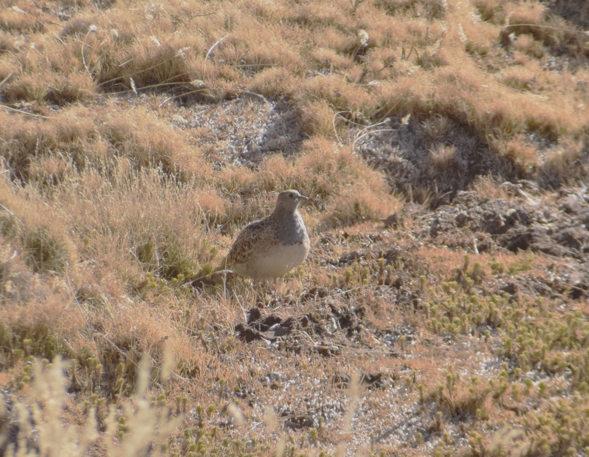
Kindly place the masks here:
<instances>
[{"instance_id":1,"label":"plump grey-breasted bird with speckled brown wings standing on dry grass","mask_svg":"<svg viewBox=\"0 0 589 457\"><path fill-rule=\"evenodd\" d=\"M226 266L240 276L267 281L302 265L310 240L299 204L309 198L299 191L280 192L269 216L247 225L226 257Z\"/></svg>"}]
</instances>

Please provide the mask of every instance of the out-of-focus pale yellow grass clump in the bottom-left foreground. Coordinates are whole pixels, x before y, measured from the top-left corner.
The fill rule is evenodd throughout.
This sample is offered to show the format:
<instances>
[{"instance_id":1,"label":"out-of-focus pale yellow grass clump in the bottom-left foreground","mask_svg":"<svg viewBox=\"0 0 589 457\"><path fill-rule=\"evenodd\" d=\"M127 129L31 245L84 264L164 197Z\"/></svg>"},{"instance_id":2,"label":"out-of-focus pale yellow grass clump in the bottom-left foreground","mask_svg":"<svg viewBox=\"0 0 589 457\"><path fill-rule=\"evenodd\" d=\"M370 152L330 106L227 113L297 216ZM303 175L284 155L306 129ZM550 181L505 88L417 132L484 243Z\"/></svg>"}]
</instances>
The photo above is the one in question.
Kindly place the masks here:
<instances>
[{"instance_id":1,"label":"out-of-focus pale yellow grass clump in the bottom-left foreground","mask_svg":"<svg viewBox=\"0 0 589 457\"><path fill-rule=\"evenodd\" d=\"M30 370L34 382L27 395L12 405L8 417L2 403L0 415L3 420L15 420L17 432L8 443L6 452L14 455L51 455L66 457L88 455L104 449L108 455L140 455L145 452L165 455L166 440L180 423L179 418L168 417L166 410L150 405L147 399L150 385L150 360L143 358L137 367L140 378L133 398L124 405L125 420L115 417L111 408L108 414L97 421L97 408L91 406L84 426L70 423L61 425L64 412L71 408L67 395L65 370L70 363L56 356L50 364L34 361ZM28 441L35 426L35 442ZM101 433L101 428L102 433ZM18 451L17 451L18 449Z\"/></svg>"}]
</instances>

